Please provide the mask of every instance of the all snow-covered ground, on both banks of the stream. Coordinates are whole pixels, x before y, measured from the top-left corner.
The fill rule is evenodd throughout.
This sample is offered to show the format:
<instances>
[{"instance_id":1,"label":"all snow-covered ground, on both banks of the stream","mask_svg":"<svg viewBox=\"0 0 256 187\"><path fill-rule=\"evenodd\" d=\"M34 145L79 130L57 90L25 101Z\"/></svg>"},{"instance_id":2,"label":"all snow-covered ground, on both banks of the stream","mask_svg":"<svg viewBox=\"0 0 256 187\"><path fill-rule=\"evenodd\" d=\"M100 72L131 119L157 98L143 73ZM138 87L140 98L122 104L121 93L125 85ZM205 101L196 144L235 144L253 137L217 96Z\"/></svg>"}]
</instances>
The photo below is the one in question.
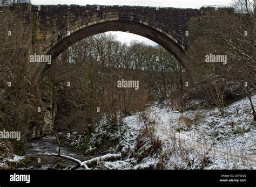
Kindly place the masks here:
<instances>
[{"instance_id":1,"label":"all snow-covered ground, on both banks of the stream","mask_svg":"<svg viewBox=\"0 0 256 187\"><path fill-rule=\"evenodd\" d=\"M256 95L252 100L255 105ZM149 112L156 122L159 150L152 153L149 139L142 135L142 112L123 119L120 142L119 127L113 131L103 120L92 134L90 146L95 146L93 142L106 143L107 137L108 141L117 142L116 148L107 151L122 155L122 159L98 159L98 165L91 169L256 169L256 122L247 98L222 112L218 109L179 112L167 103L151 106L146 110ZM79 145L82 135L78 137L75 140L79 140ZM0 167L22 159L14 155L2 160Z\"/></svg>"}]
</instances>

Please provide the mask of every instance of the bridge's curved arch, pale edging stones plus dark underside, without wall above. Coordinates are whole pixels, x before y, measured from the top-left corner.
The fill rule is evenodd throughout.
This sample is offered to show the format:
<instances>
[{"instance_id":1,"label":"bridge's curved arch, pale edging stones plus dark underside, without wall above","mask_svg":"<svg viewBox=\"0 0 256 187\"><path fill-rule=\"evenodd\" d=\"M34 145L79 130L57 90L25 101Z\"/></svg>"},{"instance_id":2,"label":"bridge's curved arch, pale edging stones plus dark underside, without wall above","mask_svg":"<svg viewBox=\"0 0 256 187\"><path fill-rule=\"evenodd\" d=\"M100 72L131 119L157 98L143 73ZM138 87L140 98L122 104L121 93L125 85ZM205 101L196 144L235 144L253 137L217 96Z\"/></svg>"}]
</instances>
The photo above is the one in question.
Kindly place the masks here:
<instances>
[{"instance_id":1,"label":"bridge's curved arch, pale edging stones plus dark underside, without wall above","mask_svg":"<svg viewBox=\"0 0 256 187\"><path fill-rule=\"evenodd\" d=\"M156 42L176 57L188 75L191 75L192 67L186 54L185 40L182 37L176 34L175 31L171 31L172 33L170 33L170 31L167 32L145 19L135 19L132 17L107 17L102 19L91 17L86 20L76 21L68 28L59 31L55 36L50 38L46 42L46 45L44 45L43 54L51 55L52 60L55 60L60 53L77 41L108 31L129 31L130 33ZM48 68L49 65L46 64L41 71L43 76Z\"/></svg>"}]
</instances>

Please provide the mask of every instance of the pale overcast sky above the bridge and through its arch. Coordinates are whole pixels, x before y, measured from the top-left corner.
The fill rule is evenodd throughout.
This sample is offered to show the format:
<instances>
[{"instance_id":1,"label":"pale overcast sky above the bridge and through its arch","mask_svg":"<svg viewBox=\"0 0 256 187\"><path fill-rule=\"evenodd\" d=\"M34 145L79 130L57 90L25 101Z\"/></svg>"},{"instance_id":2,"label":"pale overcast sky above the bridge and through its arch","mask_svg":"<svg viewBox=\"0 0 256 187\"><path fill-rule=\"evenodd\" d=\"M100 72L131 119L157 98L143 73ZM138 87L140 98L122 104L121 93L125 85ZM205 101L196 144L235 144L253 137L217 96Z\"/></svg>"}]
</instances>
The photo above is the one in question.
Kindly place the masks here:
<instances>
[{"instance_id":1,"label":"pale overcast sky above the bridge and through its arch","mask_svg":"<svg viewBox=\"0 0 256 187\"><path fill-rule=\"evenodd\" d=\"M230 6L232 0L31 0L32 4L97 4L97 5L139 5L139 6L160 6L173 8L199 9L204 5ZM132 40L144 41L147 44L154 44L153 41L140 37L139 35L112 32L117 35L118 40L130 42Z\"/></svg>"}]
</instances>

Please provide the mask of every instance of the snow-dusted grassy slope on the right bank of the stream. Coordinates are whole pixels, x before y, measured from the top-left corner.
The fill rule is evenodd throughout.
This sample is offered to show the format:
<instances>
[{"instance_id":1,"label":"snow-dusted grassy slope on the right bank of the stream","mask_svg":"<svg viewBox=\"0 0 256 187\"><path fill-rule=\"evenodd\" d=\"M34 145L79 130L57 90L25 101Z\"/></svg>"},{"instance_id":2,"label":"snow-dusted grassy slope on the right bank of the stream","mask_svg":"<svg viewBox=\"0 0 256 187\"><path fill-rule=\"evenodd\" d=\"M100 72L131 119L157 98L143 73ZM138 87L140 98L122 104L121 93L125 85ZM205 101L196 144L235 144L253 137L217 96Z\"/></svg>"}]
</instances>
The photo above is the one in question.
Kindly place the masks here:
<instances>
[{"instance_id":1,"label":"snow-dusted grassy slope on the right bank of the stream","mask_svg":"<svg viewBox=\"0 0 256 187\"><path fill-rule=\"evenodd\" d=\"M145 157L139 163L129 157L106 163L106 168L156 168L160 163L163 169L256 169L256 123L247 98L225 107L222 113L218 109L180 113L167 105L149 110L158 116L156 133L163 142L160 155ZM123 146L132 150L142 127L138 113L124 122L128 130Z\"/></svg>"}]
</instances>

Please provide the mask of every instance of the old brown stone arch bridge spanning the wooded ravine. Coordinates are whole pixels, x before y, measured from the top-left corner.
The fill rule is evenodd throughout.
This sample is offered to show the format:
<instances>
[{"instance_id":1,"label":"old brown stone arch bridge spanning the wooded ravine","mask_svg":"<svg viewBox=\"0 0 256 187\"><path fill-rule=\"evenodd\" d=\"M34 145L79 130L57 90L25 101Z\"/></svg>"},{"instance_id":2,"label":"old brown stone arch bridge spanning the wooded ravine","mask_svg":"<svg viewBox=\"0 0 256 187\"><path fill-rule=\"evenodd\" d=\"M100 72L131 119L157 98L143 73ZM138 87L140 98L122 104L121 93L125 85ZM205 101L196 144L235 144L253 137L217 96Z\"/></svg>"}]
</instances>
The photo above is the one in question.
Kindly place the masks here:
<instances>
[{"instance_id":1,"label":"old brown stone arch bridge spanning the wooded ravine","mask_svg":"<svg viewBox=\"0 0 256 187\"><path fill-rule=\"evenodd\" d=\"M123 31L141 35L163 46L188 73L192 67L186 54L187 23L203 12L203 9L30 3L14 4L11 10L26 28L26 47L30 54L47 54L54 60L66 48L86 37ZM49 64L44 64L44 69L47 67Z\"/></svg>"}]
</instances>

